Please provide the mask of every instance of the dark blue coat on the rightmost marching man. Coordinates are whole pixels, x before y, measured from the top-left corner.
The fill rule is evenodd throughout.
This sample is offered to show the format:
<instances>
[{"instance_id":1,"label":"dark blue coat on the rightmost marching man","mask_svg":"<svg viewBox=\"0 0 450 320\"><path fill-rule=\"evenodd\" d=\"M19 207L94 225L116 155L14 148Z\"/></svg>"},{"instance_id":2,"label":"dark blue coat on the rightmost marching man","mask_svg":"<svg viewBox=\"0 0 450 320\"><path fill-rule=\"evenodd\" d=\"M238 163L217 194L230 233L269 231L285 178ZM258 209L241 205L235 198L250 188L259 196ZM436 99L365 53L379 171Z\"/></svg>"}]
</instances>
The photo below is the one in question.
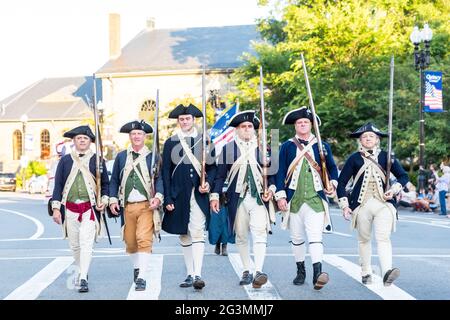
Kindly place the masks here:
<instances>
[{"instance_id":1,"label":"dark blue coat on the rightmost marching man","mask_svg":"<svg viewBox=\"0 0 450 320\"><path fill-rule=\"evenodd\" d=\"M380 166L386 170L387 164L387 152L381 151L378 155L378 163ZM353 177L355 178L358 174L359 169L364 165L364 159L362 158L359 152L353 153L345 162L344 168L339 175L338 187L337 187L337 195L338 198L347 197L347 193L345 191L345 187L347 186L348 181ZM397 178L397 182L402 186L405 186L408 181L408 174L403 170L400 162L397 159L394 161L391 167L392 174ZM364 180L364 175L362 174L358 181L353 182L353 190L350 194L349 206L352 210L357 208L360 203L358 202L358 197L361 192L361 185ZM383 181L383 189L385 189L385 181ZM395 205L395 198L389 200L390 203Z\"/></svg>"}]
</instances>

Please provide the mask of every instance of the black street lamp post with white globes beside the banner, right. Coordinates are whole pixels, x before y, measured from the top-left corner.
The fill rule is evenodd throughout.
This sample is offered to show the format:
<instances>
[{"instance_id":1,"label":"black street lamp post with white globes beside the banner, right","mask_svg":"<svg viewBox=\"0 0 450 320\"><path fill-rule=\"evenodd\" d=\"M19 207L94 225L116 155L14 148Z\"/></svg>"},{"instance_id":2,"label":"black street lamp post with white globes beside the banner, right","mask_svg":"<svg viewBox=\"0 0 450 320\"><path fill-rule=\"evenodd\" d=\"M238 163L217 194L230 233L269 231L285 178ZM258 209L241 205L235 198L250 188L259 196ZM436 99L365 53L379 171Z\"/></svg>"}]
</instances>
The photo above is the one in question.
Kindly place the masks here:
<instances>
[{"instance_id":1,"label":"black street lamp post with white globes beside the banner, right","mask_svg":"<svg viewBox=\"0 0 450 320\"><path fill-rule=\"evenodd\" d=\"M425 189L425 87L424 87L424 71L430 65L430 43L433 38L428 23L423 26L422 30L415 26L410 35L410 40L414 45L414 66L420 72L420 105L419 105L419 192ZM425 44L425 50L420 47L420 43Z\"/></svg>"}]
</instances>

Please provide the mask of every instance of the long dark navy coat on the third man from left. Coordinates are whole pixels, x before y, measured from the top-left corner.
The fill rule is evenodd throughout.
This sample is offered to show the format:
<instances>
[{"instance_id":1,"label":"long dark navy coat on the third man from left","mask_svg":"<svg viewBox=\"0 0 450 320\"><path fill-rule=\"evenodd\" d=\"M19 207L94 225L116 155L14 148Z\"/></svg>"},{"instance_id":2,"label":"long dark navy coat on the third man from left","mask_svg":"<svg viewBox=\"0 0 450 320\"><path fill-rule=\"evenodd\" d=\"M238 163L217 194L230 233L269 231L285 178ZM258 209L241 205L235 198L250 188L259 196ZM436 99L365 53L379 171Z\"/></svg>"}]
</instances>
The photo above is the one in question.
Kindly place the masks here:
<instances>
[{"instance_id":1,"label":"long dark navy coat on the third man from left","mask_svg":"<svg viewBox=\"0 0 450 320\"><path fill-rule=\"evenodd\" d=\"M192 153L200 161L202 157L202 136L196 138L187 138L186 141L191 147ZM194 147L195 146L195 147ZM172 159L172 153L175 158ZM162 178L164 183L164 218L162 229L172 234L187 234L190 217L190 199L192 188L197 204L206 216L206 227L209 224L209 195L200 193L200 177L190 163L189 158L185 156L183 161L177 166L179 160L185 155L181 147L178 136L172 136L164 143ZM216 173L216 165L213 155L208 156L206 160L206 181L212 187ZM167 211L166 205L173 204L175 209Z\"/></svg>"}]
</instances>

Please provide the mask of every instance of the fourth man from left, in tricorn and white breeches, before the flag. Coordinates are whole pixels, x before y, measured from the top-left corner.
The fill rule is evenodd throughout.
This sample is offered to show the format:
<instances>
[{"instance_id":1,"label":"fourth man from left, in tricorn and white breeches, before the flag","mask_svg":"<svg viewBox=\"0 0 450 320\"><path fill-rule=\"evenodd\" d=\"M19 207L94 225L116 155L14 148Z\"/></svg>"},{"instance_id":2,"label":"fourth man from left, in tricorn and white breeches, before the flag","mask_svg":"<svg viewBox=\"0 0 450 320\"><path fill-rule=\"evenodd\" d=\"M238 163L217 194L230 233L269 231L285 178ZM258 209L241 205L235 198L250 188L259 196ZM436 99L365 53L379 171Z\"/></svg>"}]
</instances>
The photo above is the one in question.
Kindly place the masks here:
<instances>
[{"instance_id":1,"label":"fourth man from left, in tricorn and white breeches, before the flag","mask_svg":"<svg viewBox=\"0 0 450 320\"><path fill-rule=\"evenodd\" d=\"M243 274L240 285L252 283L253 288L261 288L268 276L263 272L266 255L267 234L272 220L269 216L268 201L272 199L275 185L272 176L268 177L269 190L264 195L262 161L259 154L255 129L260 122L255 111L243 111L235 114L229 126L236 128L235 139L226 144L219 156L214 189L211 194L211 209L219 212L219 195L224 184L229 214L230 233L236 234L236 247L242 260ZM253 237L255 256L255 276L250 270L248 248L249 231Z\"/></svg>"}]
</instances>

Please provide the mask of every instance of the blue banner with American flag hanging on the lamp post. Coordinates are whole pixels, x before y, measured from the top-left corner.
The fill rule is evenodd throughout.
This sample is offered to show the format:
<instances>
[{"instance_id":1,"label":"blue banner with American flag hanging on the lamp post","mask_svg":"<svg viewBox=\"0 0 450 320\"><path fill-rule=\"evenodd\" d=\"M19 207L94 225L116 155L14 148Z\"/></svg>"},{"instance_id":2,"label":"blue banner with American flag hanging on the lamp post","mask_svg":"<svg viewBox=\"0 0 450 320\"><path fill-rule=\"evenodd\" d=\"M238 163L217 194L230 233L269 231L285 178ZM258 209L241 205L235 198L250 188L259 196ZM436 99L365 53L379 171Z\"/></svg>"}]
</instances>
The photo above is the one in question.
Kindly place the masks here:
<instances>
[{"instance_id":1,"label":"blue banner with American flag hanging on the lamp post","mask_svg":"<svg viewBox=\"0 0 450 320\"><path fill-rule=\"evenodd\" d=\"M425 71L424 112L443 112L442 72Z\"/></svg>"}]
</instances>

